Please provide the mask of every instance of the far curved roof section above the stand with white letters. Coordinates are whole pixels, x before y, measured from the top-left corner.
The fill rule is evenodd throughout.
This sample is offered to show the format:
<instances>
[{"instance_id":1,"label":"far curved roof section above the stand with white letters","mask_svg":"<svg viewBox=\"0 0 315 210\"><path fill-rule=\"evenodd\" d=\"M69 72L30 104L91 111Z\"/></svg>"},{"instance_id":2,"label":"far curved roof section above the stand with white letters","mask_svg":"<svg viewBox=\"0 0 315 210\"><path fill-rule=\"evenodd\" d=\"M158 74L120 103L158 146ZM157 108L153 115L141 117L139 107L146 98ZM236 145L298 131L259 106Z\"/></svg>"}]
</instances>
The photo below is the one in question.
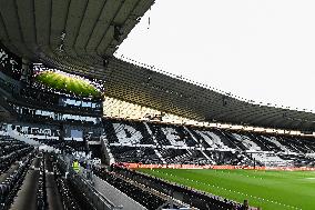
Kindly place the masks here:
<instances>
[{"instance_id":1,"label":"far curved roof section above the stand with white letters","mask_svg":"<svg viewBox=\"0 0 315 210\"><path fill-rule=\"evenodd\" d=\"M112 59L105 71L106 96L193 120L286 130L315 130L315 113L255 104Z\"/></svg>"}]
</instances>

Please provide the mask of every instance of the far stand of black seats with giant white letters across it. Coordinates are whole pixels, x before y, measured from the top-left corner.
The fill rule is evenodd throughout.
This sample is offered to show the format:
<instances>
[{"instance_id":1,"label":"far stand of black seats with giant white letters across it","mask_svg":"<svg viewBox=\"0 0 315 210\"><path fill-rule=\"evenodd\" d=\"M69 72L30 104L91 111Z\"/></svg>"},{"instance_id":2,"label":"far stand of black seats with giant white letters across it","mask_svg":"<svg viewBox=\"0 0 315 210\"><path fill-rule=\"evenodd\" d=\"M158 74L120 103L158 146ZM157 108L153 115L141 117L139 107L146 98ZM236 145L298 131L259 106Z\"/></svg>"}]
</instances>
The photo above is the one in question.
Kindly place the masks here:
<instances>
[{"instance_id":1,"label":"far stand of black seats with giant white letters across it","mask_svg":"<svg viewBox=\"0 0 315 210\"><path fill-rule=\"evenodd\" d=\"M116 162L297 167L301 157L313 153L314 147L312 138L217 128L122 119L106 119L103 124L108 148ZM313 166L314 159L306 160L305 166Z\"/></svg>"}]
</instances>

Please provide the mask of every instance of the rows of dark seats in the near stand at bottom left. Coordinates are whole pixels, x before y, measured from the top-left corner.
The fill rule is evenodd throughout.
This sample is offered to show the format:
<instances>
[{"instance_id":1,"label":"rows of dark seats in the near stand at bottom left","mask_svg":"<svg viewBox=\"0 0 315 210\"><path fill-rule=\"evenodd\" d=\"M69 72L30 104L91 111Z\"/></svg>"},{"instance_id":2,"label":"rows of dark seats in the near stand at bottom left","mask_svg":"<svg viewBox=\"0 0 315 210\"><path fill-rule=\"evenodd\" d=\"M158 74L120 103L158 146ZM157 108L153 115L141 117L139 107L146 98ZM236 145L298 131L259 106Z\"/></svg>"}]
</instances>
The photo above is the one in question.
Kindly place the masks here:
<instances>
[{"instance_id":1,"label":"rows of dark seats in the near stand at bottom left","mask_svg":"<svg viewBox=\"0 0 315 210\"><path fill-rule=\"evenodd\" d=\"M87 209L53 156L7 136L0 136L0 210Z\"/></svg>"}]
</instances>

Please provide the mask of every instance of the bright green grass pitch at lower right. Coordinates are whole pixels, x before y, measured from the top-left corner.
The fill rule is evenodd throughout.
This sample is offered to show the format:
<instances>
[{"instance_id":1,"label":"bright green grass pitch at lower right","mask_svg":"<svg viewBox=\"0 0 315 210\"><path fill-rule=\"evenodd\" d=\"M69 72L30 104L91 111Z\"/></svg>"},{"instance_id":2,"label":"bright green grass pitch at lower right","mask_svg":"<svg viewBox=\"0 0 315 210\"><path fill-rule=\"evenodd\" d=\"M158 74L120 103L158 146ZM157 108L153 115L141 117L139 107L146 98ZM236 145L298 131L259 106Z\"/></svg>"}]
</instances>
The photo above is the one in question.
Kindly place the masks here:
<instances>
[{"instance_id":1,"label":"bright green grass pitch at lower right","mask_svg":"<svg viewBox=\"0 0 315 210\"><path fill-rule=\"evenodd\" d=\"M238 202L244 199L263 210L315 210L315 172L211 169L139 169Z\"/></svg>"}]
</instances>

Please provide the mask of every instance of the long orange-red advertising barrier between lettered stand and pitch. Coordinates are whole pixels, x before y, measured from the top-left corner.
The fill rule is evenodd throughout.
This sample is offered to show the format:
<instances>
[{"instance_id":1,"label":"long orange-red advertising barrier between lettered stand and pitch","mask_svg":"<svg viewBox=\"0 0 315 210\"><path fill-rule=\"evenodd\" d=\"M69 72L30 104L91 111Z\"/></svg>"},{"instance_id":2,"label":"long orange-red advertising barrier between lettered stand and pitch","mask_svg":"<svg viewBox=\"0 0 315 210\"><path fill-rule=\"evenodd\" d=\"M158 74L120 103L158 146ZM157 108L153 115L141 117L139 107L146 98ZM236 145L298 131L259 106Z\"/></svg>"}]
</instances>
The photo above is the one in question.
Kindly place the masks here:
<instances>
[{"instance_id":1,"label":"long orange-red advertising barrier between lettered stand and pitch","mask_svg":"<svg viewBox=\"0 0 315 210\"><path fill-rule=\"evenodd\" d=\"M197 166L197 164L141 164L141 163L120 163L129 169L245 169L245 170L278 170L278 171L315 171L308 167L248 167L248 166Z\"/></svg>"}]
</instances>

